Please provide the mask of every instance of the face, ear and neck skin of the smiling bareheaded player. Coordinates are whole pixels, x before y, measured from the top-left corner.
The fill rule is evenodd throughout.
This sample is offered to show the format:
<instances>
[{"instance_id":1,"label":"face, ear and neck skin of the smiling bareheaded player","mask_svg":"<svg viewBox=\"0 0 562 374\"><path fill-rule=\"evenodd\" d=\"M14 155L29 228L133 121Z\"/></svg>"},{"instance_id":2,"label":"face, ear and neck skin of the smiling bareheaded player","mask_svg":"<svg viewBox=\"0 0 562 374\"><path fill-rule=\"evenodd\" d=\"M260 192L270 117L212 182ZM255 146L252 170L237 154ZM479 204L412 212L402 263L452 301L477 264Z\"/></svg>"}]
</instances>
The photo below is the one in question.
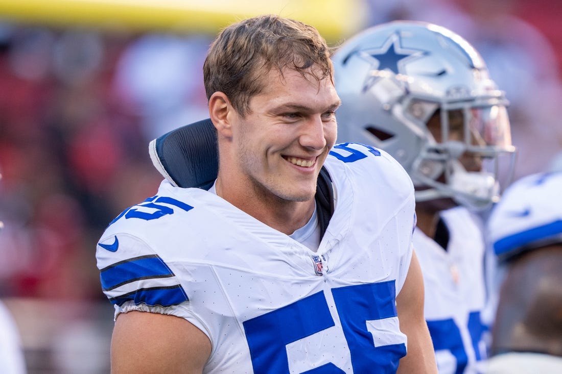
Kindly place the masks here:
<instances>
[{"instance_id":1,"label":"face, ear and neck skin of the smiling bareheaded player","mask_svg":"<svg viewBox=\"0 0 562 374\"><path fill-rule=\"evenodd\" d=\"M209 107L220 147L217 195L289 235L314 212L316 179L336 142L339 98L319 67L270 70L247 113L223 92ZM308 77L309 75L310 77ZM321 80L312 79L319 76Z\"/></svg>"}]
</instances>

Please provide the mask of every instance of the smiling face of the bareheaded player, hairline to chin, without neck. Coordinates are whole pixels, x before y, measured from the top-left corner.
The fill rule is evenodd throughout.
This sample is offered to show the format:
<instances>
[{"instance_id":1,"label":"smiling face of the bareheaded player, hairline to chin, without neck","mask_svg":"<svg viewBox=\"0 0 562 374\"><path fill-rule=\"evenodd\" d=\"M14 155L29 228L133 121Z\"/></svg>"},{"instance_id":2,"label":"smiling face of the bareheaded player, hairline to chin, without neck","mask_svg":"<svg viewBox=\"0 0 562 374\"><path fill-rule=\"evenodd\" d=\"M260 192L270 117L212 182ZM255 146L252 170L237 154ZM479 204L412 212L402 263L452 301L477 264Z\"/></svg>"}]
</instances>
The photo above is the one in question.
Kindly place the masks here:
<instances>
[{"instance_id":1,"label":"smiling face of the bareheaded player, hairline to chin, without neck","mask_svg":"<svg viewBox=\"0 0 562 374\"><path fill-rule=\"evenodd\" d=\"M289 69L262 79L265 88L251 98L246 116L234 116L237 173L253 198L311 200L336 142L336 89L330 79L318 84Z\"/></svg>"}]
</instances>

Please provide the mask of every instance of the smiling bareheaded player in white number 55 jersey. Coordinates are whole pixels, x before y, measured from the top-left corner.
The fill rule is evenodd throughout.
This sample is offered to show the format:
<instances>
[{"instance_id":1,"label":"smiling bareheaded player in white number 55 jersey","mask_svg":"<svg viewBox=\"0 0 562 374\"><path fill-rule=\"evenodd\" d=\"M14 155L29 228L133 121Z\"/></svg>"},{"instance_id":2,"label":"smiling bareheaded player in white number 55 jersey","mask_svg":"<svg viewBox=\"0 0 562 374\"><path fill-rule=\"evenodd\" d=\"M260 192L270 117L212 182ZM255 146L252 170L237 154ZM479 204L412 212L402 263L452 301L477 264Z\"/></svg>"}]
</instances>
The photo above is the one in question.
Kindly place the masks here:
<instances>
[{"instance_id":1,"label":"smiling bareheaded player in white number 55 jersey","mask_svg":"<svg viewBox=\"0 0 562 374\"><path fill-rule=\"evenodd\" d=\"M98 243L112 373L436 372L413 185L385 152L334 146L329 57L318 31L278 16L212 43L216 181L183 188L157 142L170 178Z\"/></svg>"}]
</instances>

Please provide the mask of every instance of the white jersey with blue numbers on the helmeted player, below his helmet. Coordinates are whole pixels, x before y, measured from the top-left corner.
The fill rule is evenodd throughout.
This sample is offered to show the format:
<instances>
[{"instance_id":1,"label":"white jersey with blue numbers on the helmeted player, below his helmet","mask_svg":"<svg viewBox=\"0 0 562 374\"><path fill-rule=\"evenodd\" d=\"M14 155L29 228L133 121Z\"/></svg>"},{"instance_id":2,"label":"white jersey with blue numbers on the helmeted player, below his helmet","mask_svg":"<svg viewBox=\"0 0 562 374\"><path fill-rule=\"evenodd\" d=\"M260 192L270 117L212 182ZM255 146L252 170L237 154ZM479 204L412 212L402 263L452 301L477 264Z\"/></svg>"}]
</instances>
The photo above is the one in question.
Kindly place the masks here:
<instances>
[{"instance_id":1,"label":"white jersey with blue numbers on the helmeted player, below his helmet","mask_svg":"<svg viewBox=\"0 0 562 374\"><path fill-rule=\"evenodd\" d=\"M486 330L481 312L486 301L484 240L478 218L464 207L441 212L447 250L421 230L414 232L425 287L425 320L433 340L439 374L476 373L485 358Z\"/></svg>"}]
</instances>

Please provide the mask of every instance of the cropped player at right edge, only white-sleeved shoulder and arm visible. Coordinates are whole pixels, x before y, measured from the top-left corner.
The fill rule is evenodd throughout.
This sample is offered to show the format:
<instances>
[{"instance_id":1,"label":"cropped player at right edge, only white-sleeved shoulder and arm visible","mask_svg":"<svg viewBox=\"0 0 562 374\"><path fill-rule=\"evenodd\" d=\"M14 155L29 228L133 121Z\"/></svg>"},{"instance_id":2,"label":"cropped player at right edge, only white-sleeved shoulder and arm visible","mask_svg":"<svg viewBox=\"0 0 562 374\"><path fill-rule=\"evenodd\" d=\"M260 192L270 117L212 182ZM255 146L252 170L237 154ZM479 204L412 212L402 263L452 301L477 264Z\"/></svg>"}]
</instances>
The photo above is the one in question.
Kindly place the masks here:
<instances>
[{"instance_id":1,"label":"cropped player at right edge, only white-sleeved shoulder and arm visible","mask_svg":"<svg viewBox=\"0 0 562 374\"><path fill-rule=\"evenodd\" d=\"M502 281L489 374L562 372L562 171L523 177L487 222Z\"/></svg>"}]
</instances>

